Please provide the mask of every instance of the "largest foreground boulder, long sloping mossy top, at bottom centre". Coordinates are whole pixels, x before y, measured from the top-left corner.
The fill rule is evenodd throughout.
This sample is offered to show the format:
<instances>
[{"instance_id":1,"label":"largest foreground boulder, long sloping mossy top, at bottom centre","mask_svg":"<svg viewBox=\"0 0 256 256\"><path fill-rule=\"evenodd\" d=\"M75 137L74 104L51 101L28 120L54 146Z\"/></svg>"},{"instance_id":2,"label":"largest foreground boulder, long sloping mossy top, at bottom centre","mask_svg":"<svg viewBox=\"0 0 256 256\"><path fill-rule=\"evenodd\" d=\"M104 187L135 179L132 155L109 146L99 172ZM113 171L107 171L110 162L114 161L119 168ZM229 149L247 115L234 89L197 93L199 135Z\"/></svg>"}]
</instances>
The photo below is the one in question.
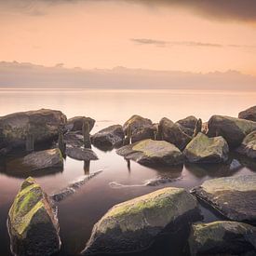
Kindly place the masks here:
<instances>
[{"instance_id":1,"label":"largest foreground boulder, long sloping mossy top, at bottom centre","mask_svg":"<svg viewBox=\"0 0 256 256\"><path fill-rule=\"evenodd\" d=\"M185 216L192 215L196 208L197 203L192 195L182 188L174 187L115 205L94 225L82 254L125 253L146 249L167 226L171 228L179 220L181 224Z\"/></svg>"}]
</instances>

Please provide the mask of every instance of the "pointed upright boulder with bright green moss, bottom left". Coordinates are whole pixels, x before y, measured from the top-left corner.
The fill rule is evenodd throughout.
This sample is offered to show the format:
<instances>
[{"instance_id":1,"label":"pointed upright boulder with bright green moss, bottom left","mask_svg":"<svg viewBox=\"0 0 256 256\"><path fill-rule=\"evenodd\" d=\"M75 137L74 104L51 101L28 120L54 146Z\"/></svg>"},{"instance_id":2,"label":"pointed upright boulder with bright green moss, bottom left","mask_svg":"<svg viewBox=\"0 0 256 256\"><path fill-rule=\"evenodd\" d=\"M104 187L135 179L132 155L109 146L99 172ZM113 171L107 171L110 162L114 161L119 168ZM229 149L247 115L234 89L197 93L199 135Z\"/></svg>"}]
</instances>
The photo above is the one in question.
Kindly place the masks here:
<instances>
[{"instance_id":1,"label":"pointed upright boulder with bright green moss, bottom left","mask_svg":"<svg viewBox=\"0 0 256 256\"><path fill-rule=\"evenodd\" d=\"M55 211L32 178L22 183L9 209L7 228L15 255L52 255L61 248Z\"/></svg>"}]
</instances>

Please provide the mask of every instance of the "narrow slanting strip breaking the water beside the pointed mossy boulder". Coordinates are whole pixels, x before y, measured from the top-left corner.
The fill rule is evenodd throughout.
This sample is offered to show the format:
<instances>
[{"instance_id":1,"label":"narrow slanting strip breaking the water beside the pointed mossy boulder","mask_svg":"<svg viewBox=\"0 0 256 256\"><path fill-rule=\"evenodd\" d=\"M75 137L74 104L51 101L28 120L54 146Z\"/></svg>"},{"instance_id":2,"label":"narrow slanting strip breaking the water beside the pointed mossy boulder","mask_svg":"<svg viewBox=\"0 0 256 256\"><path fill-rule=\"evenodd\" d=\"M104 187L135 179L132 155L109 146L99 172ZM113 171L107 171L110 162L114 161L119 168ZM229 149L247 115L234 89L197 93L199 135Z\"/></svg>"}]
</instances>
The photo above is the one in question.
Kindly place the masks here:
<instances>
[{"instance_id":1,"label":"narrow slanting strip breaking the water beside the pointed mossy boulder","mask_svg":"<svg viewBox=\"0 0 256 256\"><path fill-rule=\"evenodd\" d=\"M56 202L60 202L65 199L69 195L73 195L81 186L83 186L86 182L88 182L91 178L95 177L102 170L95 171L93 173L88 174L87 176L81 178L76 182L72 182L66 188L61 189L61 191L55 192L50 195L50 198Z\"/></svg>"}]
</instances>

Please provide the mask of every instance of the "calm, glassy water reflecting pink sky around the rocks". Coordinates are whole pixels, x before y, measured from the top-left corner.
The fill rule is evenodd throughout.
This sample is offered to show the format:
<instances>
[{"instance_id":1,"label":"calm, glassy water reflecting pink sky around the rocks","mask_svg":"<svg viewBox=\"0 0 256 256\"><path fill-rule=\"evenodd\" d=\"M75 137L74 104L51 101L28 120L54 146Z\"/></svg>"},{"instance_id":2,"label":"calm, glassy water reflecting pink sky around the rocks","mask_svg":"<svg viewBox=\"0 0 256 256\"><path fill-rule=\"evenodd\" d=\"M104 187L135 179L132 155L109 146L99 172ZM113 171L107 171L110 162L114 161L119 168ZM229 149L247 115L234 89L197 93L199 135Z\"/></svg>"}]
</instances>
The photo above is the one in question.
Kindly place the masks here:
<instances>
[{"instance_id":1,"label":"calm, glassy water reflecting pink sky around the rocks","mask_svg":"<svg viewBox=\"0 0 256 256\"><path fill-rule=\"evenodd\" d=\"M13 112L51 108L68 117L86 115L97 120L92 133L112 124L123 124L130 115L138 114L157 122L163 116L173 121L195 115L207 121L210 115L237 114L255 105L255 92L204 92L180 90L0 90L0 116ZM255 164L231 155L230 163L217 166L183 166L176 168L146 168L112 152L93 148L99 156L91 161L89 172L103 169L101 174L86 183L76 194L59 204L62 248L60 255L75 255L83 249L93 224L116 203L150 193L164 186L187 190L205 180L256 171ZM7 211L17 194L23 178L5 168L7 159L0 160L0 255L10 255L7 236ZM63 170L39 173L36 180L47 193L58 191L70 182L88 174L84 162L67 157ZM139 185L155 177L179 178L160 186L113 187L111 182ZM204 221L221 218L200 206ZM148 254L147 254L148 255ZM168 249L157 255L171 255Z\"/></svg>"}]
</instances>

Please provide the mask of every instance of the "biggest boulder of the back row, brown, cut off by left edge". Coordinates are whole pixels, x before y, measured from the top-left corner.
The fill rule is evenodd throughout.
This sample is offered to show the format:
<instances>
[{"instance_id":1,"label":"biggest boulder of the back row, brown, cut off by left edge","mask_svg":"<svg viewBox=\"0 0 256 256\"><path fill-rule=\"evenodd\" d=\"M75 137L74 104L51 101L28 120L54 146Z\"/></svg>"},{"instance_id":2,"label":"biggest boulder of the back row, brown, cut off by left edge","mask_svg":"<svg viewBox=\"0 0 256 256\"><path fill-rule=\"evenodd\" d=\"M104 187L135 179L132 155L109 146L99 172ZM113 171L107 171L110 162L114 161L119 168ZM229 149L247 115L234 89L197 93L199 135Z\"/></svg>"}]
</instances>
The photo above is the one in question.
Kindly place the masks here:
<instances>
[{"instance_id":1,"label":"biggest boulder of the back row, brown, cut off by left edge","mask_svg":"<svg viewBox=\"0 0 256 256\"><path fill-rule=\"evenodd\" d=\"M33 134L34 143L52 141L67 118L61 111L41 109L0 117L0 149L25 146L27 134Z\"/></svg>"}]
</instances>

